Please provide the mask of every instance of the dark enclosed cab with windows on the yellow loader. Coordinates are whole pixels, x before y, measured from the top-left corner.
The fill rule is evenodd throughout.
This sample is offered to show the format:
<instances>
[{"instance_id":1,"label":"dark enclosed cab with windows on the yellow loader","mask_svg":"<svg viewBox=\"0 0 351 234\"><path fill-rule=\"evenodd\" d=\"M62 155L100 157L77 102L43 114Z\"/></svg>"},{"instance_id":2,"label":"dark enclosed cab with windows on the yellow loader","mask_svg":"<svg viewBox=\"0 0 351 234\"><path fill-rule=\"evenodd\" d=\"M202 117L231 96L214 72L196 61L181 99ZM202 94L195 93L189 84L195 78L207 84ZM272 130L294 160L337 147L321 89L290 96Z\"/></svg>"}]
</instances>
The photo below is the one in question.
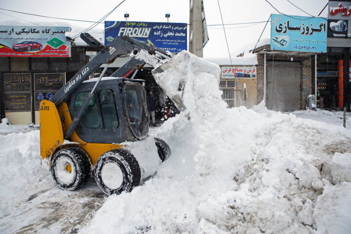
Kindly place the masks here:
<instances>
[{"instance_id":1,"label":"dark enclosed cab with windows on the yellow loader","mask_svg":"<svg viewBox=\"0 0 351 234\"><path fill-rule=\"evenodd\" d=\"M94 85L91 80L84 81L72 93L69 103L72 119ZM89 143L140 140L148 136L148 115L146 91L139 82L126 78L102 78L78 122L76 133Z\"/></svg>"}]
</instances>

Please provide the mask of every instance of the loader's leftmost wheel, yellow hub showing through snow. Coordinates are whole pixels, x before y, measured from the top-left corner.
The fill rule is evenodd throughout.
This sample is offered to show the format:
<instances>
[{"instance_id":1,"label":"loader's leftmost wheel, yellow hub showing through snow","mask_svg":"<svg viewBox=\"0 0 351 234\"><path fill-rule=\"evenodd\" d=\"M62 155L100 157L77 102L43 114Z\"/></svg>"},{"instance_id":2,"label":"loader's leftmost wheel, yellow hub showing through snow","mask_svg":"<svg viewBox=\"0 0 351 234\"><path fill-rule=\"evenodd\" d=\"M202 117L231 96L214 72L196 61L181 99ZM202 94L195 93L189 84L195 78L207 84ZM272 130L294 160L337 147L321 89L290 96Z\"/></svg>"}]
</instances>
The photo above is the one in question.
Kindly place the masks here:
<instances>
[{"instance_id":1,"label":"loader's leftmost wheel, yellow hub showing through snow","mask_svg":"<svg viewBox=\"0 0 351 234\"><path fill-rule=\"evenodd\" d=\"M64 170L62 163L66 162ZM71 172L67 171L67 164L71 166ZM73 166L73 167L72 167ZM91 164L88 156L79 148L66 148L59 150L50 162L51 175L57 186L62 190L74 191L81 188L90 177ZM66 171L66 172L65 172ZM70 175L71 180L64 179L62 173Z\"/></svg>"}]
</instances>

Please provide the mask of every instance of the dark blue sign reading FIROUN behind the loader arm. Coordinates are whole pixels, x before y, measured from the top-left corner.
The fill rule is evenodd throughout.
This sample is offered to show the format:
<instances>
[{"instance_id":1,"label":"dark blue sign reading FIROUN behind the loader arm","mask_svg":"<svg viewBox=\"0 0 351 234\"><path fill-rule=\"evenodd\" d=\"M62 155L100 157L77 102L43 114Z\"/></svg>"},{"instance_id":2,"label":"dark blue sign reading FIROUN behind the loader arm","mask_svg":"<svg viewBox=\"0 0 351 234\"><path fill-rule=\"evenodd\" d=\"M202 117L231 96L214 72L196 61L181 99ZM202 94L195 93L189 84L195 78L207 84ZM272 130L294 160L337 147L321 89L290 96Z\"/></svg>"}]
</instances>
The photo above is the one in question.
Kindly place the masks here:
<instances>
[{"instance_id":1,"label":"dark blue sign reading FIROUN behind the loader arm","mask_svg":"<svg viewBox=\"0 0 351 234\"><path fill-rule=\"evenodd\" d=\"M174 53L187 50L186 23L105 21L105 46L113 39L123 36Z\"/></svg>"}]
</instances>

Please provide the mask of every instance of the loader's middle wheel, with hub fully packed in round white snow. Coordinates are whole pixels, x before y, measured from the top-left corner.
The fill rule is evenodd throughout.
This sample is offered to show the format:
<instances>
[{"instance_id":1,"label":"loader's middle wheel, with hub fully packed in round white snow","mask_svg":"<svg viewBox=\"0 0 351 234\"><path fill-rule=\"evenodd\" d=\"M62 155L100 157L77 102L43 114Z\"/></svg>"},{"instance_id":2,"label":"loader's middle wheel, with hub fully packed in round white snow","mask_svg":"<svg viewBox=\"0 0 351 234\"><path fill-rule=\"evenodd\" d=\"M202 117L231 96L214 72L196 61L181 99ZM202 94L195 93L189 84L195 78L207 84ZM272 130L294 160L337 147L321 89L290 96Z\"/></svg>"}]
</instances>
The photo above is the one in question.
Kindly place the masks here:
<instances>
[{"instance_id":1,"label":"loader's middle wheel, with hub fully packed in round white snow","mask_svg":"<svg viewBox=\"0 0 351 234\"><path fill-rule=\"evenodd\" d=\"M106 195L130 192L140 183L140 167L130 152L122 149L102 154L94 169L95 181Z\"/></svg>"}]
</instances>

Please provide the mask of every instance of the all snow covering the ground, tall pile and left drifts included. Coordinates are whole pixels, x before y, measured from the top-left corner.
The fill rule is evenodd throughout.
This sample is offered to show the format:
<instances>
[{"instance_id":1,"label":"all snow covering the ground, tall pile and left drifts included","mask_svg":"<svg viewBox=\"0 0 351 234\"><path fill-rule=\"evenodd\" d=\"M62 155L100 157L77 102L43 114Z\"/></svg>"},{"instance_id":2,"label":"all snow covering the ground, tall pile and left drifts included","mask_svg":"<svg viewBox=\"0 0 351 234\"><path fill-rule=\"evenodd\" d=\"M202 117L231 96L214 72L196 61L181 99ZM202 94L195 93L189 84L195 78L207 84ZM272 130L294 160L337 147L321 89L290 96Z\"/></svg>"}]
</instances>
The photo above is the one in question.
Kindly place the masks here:
<instances>
[{"instance_id":1,"label":"all snow covering the ground, tall pile and left drifts included","mask_svg":"<svg viewBox=\"0 0 351 234\"><path fill-rule=\"evenodd\" d=\"M0 233L350 233L351 131L323 121L339 114L227 109L219 68L189 59L186 110L150 131L172 155L130 193L62 191L39 130L0 135Z\"/></svg>"}]
</instances>

